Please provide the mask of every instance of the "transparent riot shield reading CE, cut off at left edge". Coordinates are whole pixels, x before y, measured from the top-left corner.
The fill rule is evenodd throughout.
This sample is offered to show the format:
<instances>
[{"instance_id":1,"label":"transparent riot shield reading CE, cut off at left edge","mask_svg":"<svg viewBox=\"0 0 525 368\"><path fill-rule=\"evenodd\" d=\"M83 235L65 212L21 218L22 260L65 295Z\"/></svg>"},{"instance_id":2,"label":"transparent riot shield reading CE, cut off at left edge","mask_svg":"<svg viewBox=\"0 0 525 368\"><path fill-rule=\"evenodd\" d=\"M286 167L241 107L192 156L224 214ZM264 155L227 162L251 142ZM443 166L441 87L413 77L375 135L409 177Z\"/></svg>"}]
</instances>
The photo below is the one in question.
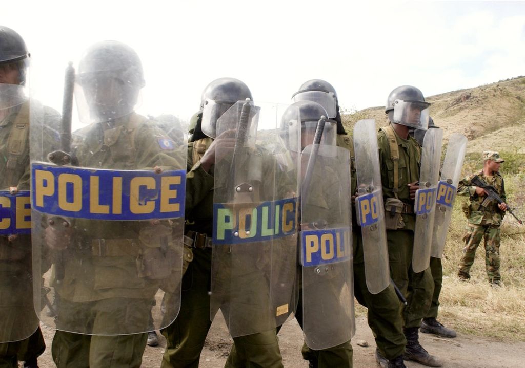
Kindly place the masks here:
<instances>
[{"instance_id":1,"label":"transparent riot shield reading CE, cut off at left edge","mask_svg":"<svg viewBox=\"0 0 525 368\"><path fill-rule=\"evenodd\" d=\"M29 337L33 308L29 182L30 101L24 86L0 83L0 343Z\"/></svg>"}]
</instances>

